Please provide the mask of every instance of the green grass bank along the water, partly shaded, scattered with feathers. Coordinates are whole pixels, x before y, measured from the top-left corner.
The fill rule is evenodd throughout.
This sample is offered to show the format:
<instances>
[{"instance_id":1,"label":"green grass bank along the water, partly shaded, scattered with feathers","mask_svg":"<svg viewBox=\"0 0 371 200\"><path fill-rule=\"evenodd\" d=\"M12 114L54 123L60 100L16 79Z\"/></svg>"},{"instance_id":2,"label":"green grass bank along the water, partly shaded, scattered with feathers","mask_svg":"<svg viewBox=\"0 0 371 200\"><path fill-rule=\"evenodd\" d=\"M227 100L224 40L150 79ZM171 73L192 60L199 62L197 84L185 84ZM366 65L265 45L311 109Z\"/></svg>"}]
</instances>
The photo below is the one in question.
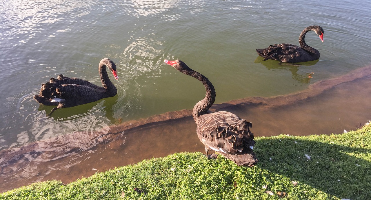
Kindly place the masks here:
<instances>
[{"instance_id":1,"label":"green grass bank along the water, partly shaded, scattered with feathers","mask_svg":"<svg viewBox=\"0 0 371 200\"><path fill-rule=\"evenodd\" d=\"M34 183L0 199L371 199L371 126L340 135L256 137L254 150L260 162L252 168L175 153L67 185Z\"/></svg>"}]
</instances>

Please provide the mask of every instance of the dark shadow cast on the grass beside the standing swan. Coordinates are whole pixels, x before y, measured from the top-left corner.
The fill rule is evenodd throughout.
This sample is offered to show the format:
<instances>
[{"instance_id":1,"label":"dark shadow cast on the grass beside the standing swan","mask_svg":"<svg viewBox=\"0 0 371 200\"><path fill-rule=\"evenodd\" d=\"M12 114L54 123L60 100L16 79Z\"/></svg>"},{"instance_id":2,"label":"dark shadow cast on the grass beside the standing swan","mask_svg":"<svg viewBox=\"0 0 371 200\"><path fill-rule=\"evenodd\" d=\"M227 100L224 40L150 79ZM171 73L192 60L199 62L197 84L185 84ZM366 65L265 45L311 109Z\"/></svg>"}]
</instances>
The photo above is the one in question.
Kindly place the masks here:
<instances>
[{"instance_id":1,"label":"dark shadow cast on the grass beside the standing swan","mask_svg":"<svg viewBox=\"0 0 371 200\"><path fill-rule=\"evenodd\" d=\"M349 141L348 146L336 145L336 141L311 142L289 136L282 140L260 139L254 148L256 156L259 157L256 166L301 184L308 184L327 194L337 194L339 198L359 199L362 196L364 199L370 199L370 188L359 184L370 179L368 169L371 163L359 158L359 155L369 154L370 150L362 148L362 144L353 143L351 138L352 136L344 137ZM273 143L277 148L263 148L272 146ZM261 149L265 151L262 152ZM310 156L309 160L305 154ZM344 165L344 160L352 164ZM341 190L336 191L339 188ZM269 186L267 189L270 189Z\"/></svg>"}]
</instances>

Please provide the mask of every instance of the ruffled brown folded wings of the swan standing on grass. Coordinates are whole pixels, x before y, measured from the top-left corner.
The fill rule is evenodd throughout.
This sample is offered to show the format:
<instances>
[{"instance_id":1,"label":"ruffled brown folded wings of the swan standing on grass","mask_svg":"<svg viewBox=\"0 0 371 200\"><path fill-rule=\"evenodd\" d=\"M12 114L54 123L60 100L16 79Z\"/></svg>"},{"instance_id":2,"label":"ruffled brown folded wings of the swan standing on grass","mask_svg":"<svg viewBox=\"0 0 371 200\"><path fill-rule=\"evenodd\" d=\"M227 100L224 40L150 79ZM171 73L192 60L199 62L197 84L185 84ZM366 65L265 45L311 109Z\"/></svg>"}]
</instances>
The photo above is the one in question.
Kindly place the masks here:
<instances>
[{"instance_id":1,"label":"ruffled brown folded wings of the swan standing on grass","mask_svg":"<svg viewBox=\"0 0 371 200\"><path fill-rule=\"evenodd\" d=\"M197 134L201 142L211 149L224 153L242 152L254 146L251 122L230 112L215 112L200 117Z\"/></svg>"}]
</instances>

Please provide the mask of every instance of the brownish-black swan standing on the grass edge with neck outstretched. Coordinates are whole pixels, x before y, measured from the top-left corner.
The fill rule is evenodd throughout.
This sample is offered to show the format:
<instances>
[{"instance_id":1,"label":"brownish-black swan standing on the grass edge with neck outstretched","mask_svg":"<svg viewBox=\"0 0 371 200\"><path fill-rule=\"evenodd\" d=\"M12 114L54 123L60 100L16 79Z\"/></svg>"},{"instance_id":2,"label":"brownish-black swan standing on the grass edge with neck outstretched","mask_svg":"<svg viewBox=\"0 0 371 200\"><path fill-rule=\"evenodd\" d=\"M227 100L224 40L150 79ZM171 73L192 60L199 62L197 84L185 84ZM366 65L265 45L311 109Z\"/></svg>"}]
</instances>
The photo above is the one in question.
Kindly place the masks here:
<instances>
[{"instance_id":1,"label":"brownish-black swan standing on the grass edge with neck outstretched","mask_svg":"<svg viewBox=\"0 0 371 200\"><path fill-rule=\"evenodd\" d=\"M216 156L209 156L209 149L212 149L238 166L254 166L258 160L252 150L255 145L254 135L250 132L252 123L230 112L211 112L209 108L215 101L215 89L209 79L180 60L164 62L183 74L198 79L206 89L205 98L194 106L192 113L197 125L197 136L205 145L206 156Z\"/></svg>"}]
</instances>

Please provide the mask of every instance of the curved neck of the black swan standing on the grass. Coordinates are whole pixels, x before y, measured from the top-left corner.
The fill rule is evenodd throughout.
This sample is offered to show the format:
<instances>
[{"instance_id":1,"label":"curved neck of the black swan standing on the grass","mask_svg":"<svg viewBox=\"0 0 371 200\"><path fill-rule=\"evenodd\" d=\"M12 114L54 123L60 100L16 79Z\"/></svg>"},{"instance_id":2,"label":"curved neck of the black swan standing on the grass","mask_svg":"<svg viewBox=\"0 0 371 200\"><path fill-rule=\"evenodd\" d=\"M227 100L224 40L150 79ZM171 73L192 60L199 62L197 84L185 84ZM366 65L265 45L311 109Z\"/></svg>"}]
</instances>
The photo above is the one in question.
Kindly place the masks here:
<instances>
[{"instance_id":1,"label":"curved neck of the black swan standing on the grass","mask_svg":"<svg viewBox=\"0 0 371 200\"><path fill-rule=\"evenodd\" d=\"M206 95L205 98L203 98L201 101L197 102L196 105L193 107L192 116L194 121L197 123L198 117L200 115L206 114L211 105L214 104L215 101L215 89L213 84L207 79L204 75L198 73L194 70L187 70L186 72L183 72L184 74L190 75L191 77L197 78L199 81L202 82L206 89Z\"/></svg>"}]
</instances>

